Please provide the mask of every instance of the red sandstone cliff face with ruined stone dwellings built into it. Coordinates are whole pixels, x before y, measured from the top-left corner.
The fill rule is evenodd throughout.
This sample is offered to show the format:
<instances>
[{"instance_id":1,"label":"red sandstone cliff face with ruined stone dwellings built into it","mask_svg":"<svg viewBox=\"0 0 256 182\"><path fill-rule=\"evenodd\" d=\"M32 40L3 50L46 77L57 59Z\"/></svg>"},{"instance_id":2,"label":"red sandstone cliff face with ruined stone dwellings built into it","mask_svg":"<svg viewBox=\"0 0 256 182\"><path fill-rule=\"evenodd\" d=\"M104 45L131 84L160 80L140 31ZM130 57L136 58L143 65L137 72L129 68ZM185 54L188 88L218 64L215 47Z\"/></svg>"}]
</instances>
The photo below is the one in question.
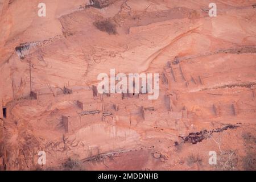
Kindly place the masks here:
<instances>
[{"instance_id":1,"label":"red sandstone cliff face with ruined stone dwellings built into it","mask_svg":"<svg viewBox=\"0 0 256 182\"><path fill-rule=\"evenodd\" d=\"M255 169L256 2L210 2L2 1L0 168ZM110 69L158 100L93 96Z\"/></svg>"}]
</instances>

